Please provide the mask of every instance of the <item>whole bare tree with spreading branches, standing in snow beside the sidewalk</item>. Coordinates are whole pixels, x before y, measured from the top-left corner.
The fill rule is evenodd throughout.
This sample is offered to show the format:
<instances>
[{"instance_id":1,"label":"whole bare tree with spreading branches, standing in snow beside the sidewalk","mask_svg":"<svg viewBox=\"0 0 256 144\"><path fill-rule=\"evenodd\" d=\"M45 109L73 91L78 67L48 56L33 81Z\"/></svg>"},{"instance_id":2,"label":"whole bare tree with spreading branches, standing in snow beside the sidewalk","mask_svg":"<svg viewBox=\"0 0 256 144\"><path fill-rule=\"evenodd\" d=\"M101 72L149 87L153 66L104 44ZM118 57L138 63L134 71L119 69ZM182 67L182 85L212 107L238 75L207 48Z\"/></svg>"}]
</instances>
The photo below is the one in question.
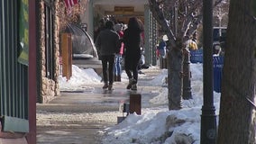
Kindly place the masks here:
<instances>
[{"instance_id":1,"label":"whole bare tree with spreading branches, standing in snow beside the sidewalk","mask_svg":"<svg viewBox=\"0 0 256 144\"><path fill-rule=\"evenodd\" d=\"M215 5L222 0L216 0ZM197 31L202 21L202 0L149 0L151 13L169 38L169 110L181 108L185 36Z\"/></svg>"}]
</instances>

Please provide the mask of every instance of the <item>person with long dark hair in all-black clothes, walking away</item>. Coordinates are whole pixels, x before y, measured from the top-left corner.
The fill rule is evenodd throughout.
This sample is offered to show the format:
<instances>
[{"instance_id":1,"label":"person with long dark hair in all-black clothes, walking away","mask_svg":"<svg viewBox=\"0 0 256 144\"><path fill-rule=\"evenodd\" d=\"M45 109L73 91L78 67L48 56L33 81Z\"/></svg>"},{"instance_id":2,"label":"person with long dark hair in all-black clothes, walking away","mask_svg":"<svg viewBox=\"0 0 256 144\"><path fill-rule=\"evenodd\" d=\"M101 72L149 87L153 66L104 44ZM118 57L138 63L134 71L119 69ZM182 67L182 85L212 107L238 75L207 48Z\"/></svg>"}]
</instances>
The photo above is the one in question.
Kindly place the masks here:
<instances>
[{"instance_id":1,"label":"person with long dark hair in all-black clothes, walking away","mask_svg":"<svg viewBox=\"0 0 256 144\"><path fill-rule=\"evenodd\" d=\"M138 66L141 58L142 22L136 17L129 19L128 28L123 32L124 69L129 77L127 89L137 90Z\"/></svg>"}]
</instances>

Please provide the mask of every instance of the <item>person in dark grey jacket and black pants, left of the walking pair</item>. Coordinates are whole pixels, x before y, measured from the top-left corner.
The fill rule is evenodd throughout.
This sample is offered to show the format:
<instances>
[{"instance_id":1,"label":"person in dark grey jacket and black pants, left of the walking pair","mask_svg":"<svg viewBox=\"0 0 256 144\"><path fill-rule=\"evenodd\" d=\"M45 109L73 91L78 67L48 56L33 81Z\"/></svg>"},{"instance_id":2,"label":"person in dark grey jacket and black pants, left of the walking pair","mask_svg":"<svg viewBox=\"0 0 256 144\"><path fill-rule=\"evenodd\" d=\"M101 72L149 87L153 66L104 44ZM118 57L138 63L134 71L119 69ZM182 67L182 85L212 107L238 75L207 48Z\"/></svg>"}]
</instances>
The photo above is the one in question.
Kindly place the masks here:
<instances>
[{"instance_id":1,"label":"person in dark grey jacket and black pants, left of the walking pair","mask_svg":"<svg viewBox=\"0 0 256 144\"><path fill-rule=\"evenodd\" d=\"M112 90L114 81L114 56L120 50L119 35L114 31L114 23L112 21L107 21L105 23L105 30L100 31L96 39L96 47L99 50L102 61L103 80L105 83L103 88Z\"/></svg>"}]
</instances>

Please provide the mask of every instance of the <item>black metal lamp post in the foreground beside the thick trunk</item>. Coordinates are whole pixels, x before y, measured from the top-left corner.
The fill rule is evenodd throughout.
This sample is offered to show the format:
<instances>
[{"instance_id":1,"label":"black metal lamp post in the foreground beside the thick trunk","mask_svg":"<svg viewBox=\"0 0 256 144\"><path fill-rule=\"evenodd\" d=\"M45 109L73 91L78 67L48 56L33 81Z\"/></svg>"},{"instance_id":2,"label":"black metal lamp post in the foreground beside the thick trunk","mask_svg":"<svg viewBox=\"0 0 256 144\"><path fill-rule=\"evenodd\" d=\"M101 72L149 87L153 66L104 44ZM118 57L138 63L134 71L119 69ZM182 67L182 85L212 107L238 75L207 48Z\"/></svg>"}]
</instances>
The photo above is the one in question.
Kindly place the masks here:
<instances>
[{"instance_id":1,"label":"black metal lamp post in the foreground beside the thick trunk","mask_svg":"<svg viewBox=\"0 0 256 144\"><path fill-rule=\"evenodd\" d=\"M213 0L203 0L204 103L201 115L201 144L215 144L216 115L213 94Z\"/></svg>"}]
</instances>

